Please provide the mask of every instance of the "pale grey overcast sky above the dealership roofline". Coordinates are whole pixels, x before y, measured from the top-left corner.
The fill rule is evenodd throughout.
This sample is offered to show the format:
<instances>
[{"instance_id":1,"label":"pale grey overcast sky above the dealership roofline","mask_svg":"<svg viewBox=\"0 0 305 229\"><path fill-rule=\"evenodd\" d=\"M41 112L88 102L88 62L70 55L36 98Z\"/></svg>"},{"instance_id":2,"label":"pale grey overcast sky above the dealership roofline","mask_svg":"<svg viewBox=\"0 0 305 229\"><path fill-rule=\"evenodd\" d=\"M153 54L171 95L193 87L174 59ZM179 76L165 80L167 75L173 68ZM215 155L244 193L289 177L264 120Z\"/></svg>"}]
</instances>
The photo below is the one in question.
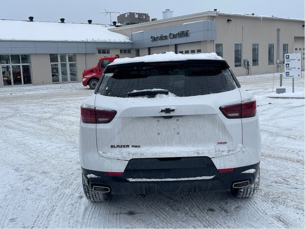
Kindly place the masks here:
<instances>
[{"instance_id":1,"label":"pale grey overcast sky above the dealership roofline","mask_svg":"<svg viewBox=\"0 0 305 229\"><path fill-rule=\"evenodd\" d=\"M163 19L162 11L173 10L173 16L213 11L245 13L304 19L304 0L0 0L0 19L110 24L122 13L148 13L150 18ZM105 12L111 13L105 16Z\"/></svg>"}]
</instances>

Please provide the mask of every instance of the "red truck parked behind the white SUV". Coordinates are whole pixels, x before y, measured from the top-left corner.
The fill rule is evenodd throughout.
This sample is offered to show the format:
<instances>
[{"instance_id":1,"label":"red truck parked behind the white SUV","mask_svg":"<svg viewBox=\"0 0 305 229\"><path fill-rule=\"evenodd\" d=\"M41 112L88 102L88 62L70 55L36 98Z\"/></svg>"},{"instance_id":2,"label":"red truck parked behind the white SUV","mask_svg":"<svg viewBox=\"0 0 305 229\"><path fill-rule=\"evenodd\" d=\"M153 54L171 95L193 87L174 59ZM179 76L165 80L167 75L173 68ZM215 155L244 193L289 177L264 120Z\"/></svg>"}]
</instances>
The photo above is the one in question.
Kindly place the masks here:
<instances>
[{"instance_id":1,"label":"red truck parked behind the white SUV","mask_svg":"<svg viewBox=\"0 0 305 229\"><path fill-rule=\"evenodd\" d=\"M101 78L101 75L104 72L105 67L117 58L120 58L120 56L115 55L101 57L99 58L97 66L85 69L83 71L83 85L85 87L89 85L91 89L95 89L99 79Z\"/></svg>"}]
</instances>

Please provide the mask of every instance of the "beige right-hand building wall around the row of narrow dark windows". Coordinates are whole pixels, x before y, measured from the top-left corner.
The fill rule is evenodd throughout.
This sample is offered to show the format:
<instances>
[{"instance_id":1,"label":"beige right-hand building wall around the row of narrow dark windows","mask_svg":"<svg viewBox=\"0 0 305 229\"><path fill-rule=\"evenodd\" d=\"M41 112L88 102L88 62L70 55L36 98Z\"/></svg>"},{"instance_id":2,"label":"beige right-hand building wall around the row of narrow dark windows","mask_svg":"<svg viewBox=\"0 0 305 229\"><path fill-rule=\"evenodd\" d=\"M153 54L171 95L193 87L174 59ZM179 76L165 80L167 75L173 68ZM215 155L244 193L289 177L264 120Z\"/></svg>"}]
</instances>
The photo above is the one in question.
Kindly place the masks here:
<instances>
[{"instance_id":1,"label":"beige right-hand building wall around the row of narrow dark windows","mask_svg":"<svg viewBox=\"0 0 305 229\"><path fill-rule=\"evenodd\" d=\"M227 19L232 20L227 22ZM276 20L259 17L218 15L216 17L216 41L223 44L223 58L235 75L246 75L245 67L234 67L234 44L243 44L243 59L248 59L252 75L276 72L277 29L280 29L280 59L283 58L283 44L288 44L293 53L294 36L304 36L302 22ZM252 66L252 44L258 45L258 66ZM274 65L268 65L268 44L274 44ZM280 72L283 72L280 71Z\"/></svg>"}]
</instances>

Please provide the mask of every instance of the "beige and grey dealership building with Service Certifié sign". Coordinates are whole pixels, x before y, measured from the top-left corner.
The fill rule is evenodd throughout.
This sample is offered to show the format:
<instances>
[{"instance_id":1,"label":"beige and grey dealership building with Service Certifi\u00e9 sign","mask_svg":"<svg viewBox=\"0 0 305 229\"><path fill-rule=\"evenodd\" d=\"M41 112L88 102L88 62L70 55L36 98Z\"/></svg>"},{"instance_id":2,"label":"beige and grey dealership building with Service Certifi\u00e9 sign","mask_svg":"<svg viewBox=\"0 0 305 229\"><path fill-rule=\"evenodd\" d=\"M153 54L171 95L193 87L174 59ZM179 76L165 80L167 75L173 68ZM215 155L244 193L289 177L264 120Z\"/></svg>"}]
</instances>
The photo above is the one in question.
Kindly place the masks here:
<instances>
[{"instance_id":1,"label":"beige and grey dealership building with Service Certifi\u00e9 sign","mask_svg":"<svg viewBox=\"0 0 305 229\"><path fill-rule=\"evenodd\" d=\"M175 52L216 52L235 75L283 72L277 60L301 53L304 20L221 13L217 9L121 27L88 23L0 20L0 87L82 82L82 72L99 57L135 57ZM127 24L127 23L125 23ZM245 61L246 62L245 62ZM249 70L249 69L248 69Z\"/></svg>"}]
</instances>

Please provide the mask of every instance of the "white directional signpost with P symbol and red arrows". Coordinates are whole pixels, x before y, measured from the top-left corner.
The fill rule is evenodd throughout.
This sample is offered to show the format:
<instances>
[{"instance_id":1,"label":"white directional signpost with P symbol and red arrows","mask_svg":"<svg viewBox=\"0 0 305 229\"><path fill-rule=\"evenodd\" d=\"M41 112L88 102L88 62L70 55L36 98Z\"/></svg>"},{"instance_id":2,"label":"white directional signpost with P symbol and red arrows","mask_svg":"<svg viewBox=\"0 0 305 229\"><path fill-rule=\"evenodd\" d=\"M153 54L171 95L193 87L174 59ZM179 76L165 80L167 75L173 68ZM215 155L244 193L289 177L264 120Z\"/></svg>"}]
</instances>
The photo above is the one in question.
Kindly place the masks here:
<instances>
[{"instance_id":1,"label":"white directional signpost with P symbol and red arrows","mask_svg":"<svg viewBox=\"0 0 305 229\"><path fill-rule=\"evenodd\" d=\"M285 54L285 78L292 78L292 92L294 92L294 78L301 78L302 53Z\"/></svg>"}]
</instances>

